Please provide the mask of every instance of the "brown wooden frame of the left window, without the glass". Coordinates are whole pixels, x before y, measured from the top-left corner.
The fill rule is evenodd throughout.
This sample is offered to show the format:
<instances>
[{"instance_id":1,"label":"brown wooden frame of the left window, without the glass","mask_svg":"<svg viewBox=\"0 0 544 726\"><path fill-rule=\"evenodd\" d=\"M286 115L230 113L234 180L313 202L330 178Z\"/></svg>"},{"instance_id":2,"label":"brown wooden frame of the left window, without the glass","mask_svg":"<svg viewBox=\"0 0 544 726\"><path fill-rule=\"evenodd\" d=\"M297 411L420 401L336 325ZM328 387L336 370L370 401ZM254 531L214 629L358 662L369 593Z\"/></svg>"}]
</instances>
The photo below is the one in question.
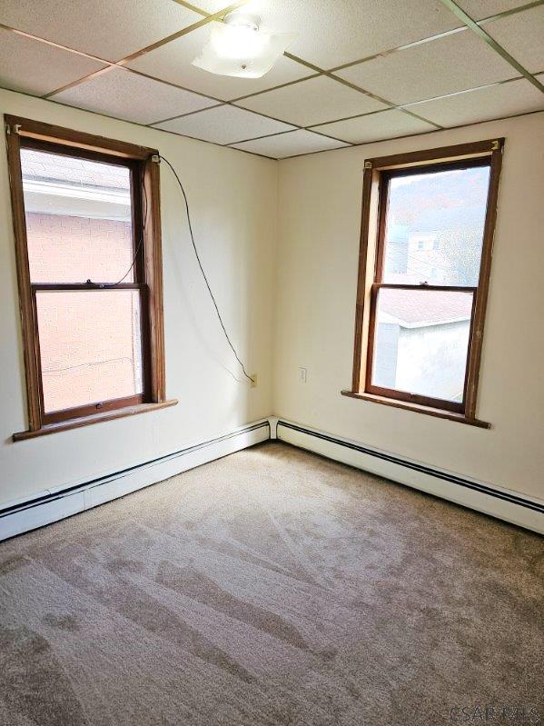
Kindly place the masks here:
<instances>
[{"instance_id":1,"label":"brown wooden frame of the left window, without the glass","mask_svg":"<svg viewBox=\"0 0 544 726\"><path fill-rule=\"evenodd\" d=\"M160 174L159 164L156 163L159 159L158 151L8 114L5 114L5 131L28 410L28 429L25 432L15 433L14 440L143 413L177 403L166 401L165 398ZM120 164L129 169L135 254L134 283L116 285L102 283L101 286L100 282L75 284L31 282L21 169L22 148L75 155L91 161ZM144 214L145 221L143 221ZM72 290L100 294L104 289L140 292L143 393L45 413L36 293Z\"/></svg>"}]
</instances>

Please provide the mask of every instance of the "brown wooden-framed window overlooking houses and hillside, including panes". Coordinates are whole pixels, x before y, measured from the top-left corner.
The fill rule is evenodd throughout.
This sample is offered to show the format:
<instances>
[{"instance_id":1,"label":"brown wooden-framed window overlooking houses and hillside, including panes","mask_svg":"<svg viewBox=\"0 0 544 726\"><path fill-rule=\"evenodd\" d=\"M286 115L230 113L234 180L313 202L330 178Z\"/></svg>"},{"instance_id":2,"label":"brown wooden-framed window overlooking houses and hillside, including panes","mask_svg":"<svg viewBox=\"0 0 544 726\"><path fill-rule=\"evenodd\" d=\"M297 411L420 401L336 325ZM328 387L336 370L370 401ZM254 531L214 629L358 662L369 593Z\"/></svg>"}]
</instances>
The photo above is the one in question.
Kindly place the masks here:
<instances>
[{"instance_id":1,"label":"brown wooden-framed window overlooking houses and hillside, including panes","mask_svg":"<svg viewBox=\"0 0 544 726\"><path fill-rule=\"evenodd\" d=\"M476 394L503 140L365 163L353 381L489 426Z\"/></svg>"}]
</instances>

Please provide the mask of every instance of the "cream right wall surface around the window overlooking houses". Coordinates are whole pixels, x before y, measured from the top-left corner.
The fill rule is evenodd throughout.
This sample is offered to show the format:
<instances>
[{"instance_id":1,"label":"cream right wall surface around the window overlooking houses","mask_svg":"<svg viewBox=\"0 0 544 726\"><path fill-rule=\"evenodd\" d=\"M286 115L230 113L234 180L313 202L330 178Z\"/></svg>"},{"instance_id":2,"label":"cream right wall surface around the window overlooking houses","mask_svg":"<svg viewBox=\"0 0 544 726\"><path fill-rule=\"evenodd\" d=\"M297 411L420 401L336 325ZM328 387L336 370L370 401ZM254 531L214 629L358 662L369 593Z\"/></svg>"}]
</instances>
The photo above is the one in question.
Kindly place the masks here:
<instances>
[{"instance_id":1,"label":"cream right wall surface around the window overlooking houses","mask_svg":"<svg viewBox=\"0 0 544 726\"><path fill-rule=\"evenodd\" d=\"M477 412L492 428L341 396L351 387L364 159L498 136L506 148ZM543 234L544 114L281 162L275 412L542 497Z\"/></svg>"}]
</instances>

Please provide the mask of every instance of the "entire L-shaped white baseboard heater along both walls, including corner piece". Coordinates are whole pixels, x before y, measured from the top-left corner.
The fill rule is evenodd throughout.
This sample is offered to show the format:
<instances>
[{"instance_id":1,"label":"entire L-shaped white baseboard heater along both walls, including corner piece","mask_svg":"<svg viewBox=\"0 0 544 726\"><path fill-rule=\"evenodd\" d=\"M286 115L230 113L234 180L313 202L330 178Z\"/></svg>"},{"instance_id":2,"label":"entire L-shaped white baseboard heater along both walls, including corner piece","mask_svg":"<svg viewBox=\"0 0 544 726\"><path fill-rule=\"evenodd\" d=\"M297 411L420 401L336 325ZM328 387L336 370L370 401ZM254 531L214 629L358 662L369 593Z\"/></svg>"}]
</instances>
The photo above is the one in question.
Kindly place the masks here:
<instances>
[{"instance_id":1,"label":"entire L-shaped white baseboard heater along both walls, including corner piece","mask_svg":"<svg viewBox=\"0 0 544 726\"><path fill-rule=\"evenodd\" d=\"M0 510L0 541L92 509L255 443L278 439L544 534L544 502L284 419L264 419L209 441Z\"/></svg>"}]
</instances>

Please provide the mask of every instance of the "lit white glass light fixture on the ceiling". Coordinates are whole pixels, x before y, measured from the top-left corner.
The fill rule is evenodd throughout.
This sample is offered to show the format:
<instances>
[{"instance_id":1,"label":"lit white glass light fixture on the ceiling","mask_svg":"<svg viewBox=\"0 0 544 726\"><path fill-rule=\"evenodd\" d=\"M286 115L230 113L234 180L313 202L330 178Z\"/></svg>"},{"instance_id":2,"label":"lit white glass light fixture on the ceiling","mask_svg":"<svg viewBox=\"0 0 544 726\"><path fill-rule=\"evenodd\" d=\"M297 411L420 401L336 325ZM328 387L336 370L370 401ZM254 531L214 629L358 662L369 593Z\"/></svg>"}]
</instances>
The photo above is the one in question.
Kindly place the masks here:
<instances>
[{"instance_id":1,"label":"lit white glass light fixture on the ceiling","mask_svg":"<svg viewBox=\"0 0 544 726\"><path fill-rule=\"evenodd\" d=\"M266 33L261 18L236 10L210 23L210 40L193 65L215 75L261 78L283 55L294 33Z\"/></svg>"}]
</instances>

